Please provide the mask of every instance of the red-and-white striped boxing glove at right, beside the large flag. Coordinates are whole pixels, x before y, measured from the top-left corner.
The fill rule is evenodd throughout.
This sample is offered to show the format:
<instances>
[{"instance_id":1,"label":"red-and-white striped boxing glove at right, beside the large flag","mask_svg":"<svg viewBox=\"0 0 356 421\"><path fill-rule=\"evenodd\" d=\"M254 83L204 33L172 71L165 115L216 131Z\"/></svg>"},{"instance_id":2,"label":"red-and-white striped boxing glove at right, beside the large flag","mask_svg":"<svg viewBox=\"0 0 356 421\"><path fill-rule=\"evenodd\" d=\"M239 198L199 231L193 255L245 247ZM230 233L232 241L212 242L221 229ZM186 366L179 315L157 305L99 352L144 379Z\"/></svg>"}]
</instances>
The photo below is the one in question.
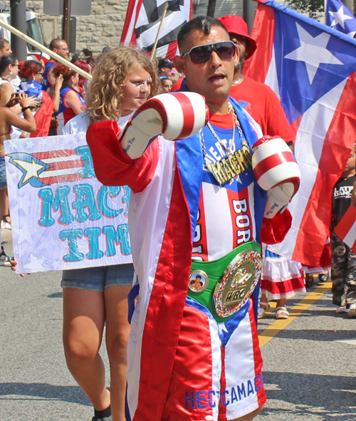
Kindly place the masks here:
<instances>
[{"instance_id":1,"label":"red-and-white striped boxing glove at right, beside the large flag","mask_svg":"<svg viewBox=\"0 0 356 421\"><path fill-rule=\"evenodd\" d=\"M273 218L286 209L298 191L300 170L286 142L278 136L263 136L252 146L252 168L258 185L267 191L264 216Z\"/></svg>"}]
</instances>

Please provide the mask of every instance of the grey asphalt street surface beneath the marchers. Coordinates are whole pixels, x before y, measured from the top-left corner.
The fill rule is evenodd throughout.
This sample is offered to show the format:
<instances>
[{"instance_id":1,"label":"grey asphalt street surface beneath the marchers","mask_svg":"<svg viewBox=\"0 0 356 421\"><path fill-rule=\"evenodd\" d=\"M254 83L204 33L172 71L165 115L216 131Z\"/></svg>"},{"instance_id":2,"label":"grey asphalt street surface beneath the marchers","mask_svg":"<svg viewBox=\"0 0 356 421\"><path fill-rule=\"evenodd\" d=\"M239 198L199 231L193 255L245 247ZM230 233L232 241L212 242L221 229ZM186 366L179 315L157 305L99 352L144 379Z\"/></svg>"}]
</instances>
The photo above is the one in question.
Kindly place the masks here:
<instances>
[{"instance_id":1,"label":"grey asphalt street surface beneath the marchers","mask_svg":"<svg viewBox=\"0 0 356 421\"><path fill-rule=\"evenodd\" d=\"M11 232L1 236L12 255ZM0 419L90 421L63 356L61 272L21 278L1 266L0 297ZM259 323L268 401L255 420L356 420L356 318L335 313L330 283L287 306L288 324L274 312Z\"/></svg>"}]
</instances>

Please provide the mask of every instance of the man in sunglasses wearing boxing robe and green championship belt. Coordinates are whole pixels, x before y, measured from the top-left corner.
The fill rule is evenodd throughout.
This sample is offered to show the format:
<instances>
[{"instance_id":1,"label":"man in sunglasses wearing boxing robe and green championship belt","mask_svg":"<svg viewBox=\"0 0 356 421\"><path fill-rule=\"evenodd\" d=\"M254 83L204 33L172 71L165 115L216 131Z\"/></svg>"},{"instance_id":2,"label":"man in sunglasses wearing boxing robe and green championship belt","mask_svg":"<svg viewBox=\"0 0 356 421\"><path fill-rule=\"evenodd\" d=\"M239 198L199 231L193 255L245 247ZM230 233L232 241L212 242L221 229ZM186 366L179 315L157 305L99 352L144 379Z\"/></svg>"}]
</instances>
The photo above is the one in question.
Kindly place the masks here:
<instances>
[{"instance_id":1,"label":"man in sunglasses wearing boxing robe and green championship belt","mask_svg":"<svg viewBox=\"0 0 356 421\"><path fill-rule=\"evenodd\" d=\"M251 421L266 402L256 328L258 242L281 241L290 219L286 211L263 221L272 207L265 210L266 189L251 166L262 133L229 98L236 47L226 28L199 16L182 26L178 43L174 67L186 76L184 90L206 98L208 125L199 130L197 123L205 107L167 93L137 110L125 142L111 121L87 132L98 180L132 188L130 239L140 293L127 405L135 421ZM155 137L172 129L169 121L179 133L194 134L174 142ZM281 231L267 239L273 222ZM191 289L198 275L207 282Z\"/></svg>"}]
</instances>

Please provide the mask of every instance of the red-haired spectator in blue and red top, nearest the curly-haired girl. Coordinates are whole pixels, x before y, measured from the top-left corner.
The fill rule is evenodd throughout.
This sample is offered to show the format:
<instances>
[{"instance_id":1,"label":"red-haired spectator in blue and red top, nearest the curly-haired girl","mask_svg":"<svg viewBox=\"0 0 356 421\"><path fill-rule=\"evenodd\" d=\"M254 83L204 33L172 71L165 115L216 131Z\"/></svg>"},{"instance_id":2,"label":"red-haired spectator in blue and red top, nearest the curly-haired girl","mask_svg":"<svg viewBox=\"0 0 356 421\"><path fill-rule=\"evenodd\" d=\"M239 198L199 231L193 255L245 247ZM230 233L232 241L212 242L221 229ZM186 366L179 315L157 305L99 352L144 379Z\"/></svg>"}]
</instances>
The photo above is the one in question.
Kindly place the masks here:
<instances>
[{"instance_id":1,"label":"red-haired spectator in blue and red top, nearest the curly-haired girl","mask_svg":"<svg viewBox=\"0 0 356 421\"><path fill-rule=\"evenodd\" d=\"M64 64L56 64L52 70L53 76L63 76L63 85L60 90L59 108L54 117L56 120L56 134L61 135L63 127L75 115L83 113L85 101L78 92L79 75Z\"/></svg>"}]
</instances>

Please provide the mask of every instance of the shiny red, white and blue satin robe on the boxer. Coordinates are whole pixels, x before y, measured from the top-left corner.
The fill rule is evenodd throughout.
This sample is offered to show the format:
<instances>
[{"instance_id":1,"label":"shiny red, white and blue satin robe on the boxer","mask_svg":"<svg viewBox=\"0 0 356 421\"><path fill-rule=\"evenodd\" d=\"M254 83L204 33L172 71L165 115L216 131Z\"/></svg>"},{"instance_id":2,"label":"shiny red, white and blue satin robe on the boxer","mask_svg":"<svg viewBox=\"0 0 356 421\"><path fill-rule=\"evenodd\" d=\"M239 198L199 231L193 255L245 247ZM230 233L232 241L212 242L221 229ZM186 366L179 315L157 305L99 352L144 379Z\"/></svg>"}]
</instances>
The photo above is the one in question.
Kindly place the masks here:
<instances>
[{"instance_id":1,"label":"shiny red, white and blue satin robe on the boxer","mask_svg":"<svg viewBox=\"0 0 356 421\"><path fill-rule=\"evenodd\" d=\"M251 147L261 131L240 105L232 99L231 103ZM232 190L240 190L248 200L251 222L248 241L260 241L266 192L258 187L251 169L240 177L242 182L235 180L232 184L218 187L212 175L204 170L199 133L177 142L157 137L137 160L132 160L123 152L119 137L117 123L112 121L96 123L90 126L87 133L98 180L106 185L127 184L132 189L129 227L132 260L140 283L140 294L131 321L127 402L132 420L161 421L167 410L165 405L183 326L182 316L187 311L193 240L197 235L197 219L202 217L199 203L205 201L207 205L200 209L208 210L219 206L217 194L221 194L221 197L224 195L229 202L233 197L238 199ZM236 144L236 147L239 145ZM217 192L215 196L214 191ZM207 212L204 214L206 219ZM230 222L226 223L231 224L230 229L234 229L231 217L232 213ZM214 229L211 224L219 231L214 215L206 223L205 231ZM230 245L224 245L222 254L234 249L237 234L234 235L231 234ZM199 246L197 241L194 246ZM258 289L253 298L256 313ZM244 311L244 318L254 319L251 303L247 303ZM250 322L248 324L251 331L252 325ZM258 343L254 343L253 347L252 344L248 346L254 352ZM253 390L254 400L249 412L264 402L263 396L259 396L256 390ZM209 420L217 419L212 405L209 416ZM232 418L225 414L219 419Z\"/></svg>"}]
</instances>

